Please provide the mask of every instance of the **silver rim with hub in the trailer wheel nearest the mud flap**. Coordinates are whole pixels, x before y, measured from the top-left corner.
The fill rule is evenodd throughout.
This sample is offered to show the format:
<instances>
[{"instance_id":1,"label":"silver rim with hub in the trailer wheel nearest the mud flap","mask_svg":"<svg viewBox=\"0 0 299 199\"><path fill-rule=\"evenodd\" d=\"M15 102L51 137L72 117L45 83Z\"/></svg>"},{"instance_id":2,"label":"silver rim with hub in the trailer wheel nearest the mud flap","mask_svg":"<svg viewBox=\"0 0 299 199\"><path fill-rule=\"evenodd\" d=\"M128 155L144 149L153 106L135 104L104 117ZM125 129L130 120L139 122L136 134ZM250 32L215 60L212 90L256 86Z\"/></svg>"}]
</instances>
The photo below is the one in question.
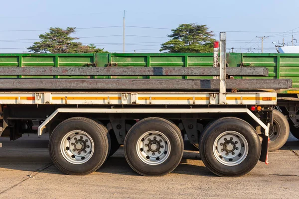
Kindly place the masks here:
<instances>
[{"instance_id":1,"label":"silver rim with hub in the trailer wheel nearest the mud flap","mask_svg":"<svg viewBox=\"0 0 299 199\"><path fill-rule=\"evenodd\" d=\"M247 157L248 143L242 134L236 131L225 131L215 139L213 152L221 164L236 166Z\"/></svg>"}]
</instances>

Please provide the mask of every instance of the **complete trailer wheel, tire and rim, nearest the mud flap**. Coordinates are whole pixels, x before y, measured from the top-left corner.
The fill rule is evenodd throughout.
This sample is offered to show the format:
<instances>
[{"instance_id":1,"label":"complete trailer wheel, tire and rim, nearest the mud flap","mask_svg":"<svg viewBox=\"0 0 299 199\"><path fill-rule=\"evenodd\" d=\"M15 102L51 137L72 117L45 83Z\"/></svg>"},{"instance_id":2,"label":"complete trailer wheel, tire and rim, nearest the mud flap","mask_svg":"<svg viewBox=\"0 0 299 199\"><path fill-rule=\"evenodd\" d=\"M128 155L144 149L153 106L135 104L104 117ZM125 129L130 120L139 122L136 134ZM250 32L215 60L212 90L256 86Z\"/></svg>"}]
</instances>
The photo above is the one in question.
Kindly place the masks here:
<instances>
[{"instance_id":1,"label":"complete trailer wheel, tire and rim, nearest the mud flap","mask_svg":"<svg viewBox=\"0 0 299 199\"><path fill-rule=\"evenodd\" d=\"M249 123L223 117L203 131L199 151L203 163L214 174L238 177L255 167L261 155L261 143Z\"/></svg>"}]
</instances>

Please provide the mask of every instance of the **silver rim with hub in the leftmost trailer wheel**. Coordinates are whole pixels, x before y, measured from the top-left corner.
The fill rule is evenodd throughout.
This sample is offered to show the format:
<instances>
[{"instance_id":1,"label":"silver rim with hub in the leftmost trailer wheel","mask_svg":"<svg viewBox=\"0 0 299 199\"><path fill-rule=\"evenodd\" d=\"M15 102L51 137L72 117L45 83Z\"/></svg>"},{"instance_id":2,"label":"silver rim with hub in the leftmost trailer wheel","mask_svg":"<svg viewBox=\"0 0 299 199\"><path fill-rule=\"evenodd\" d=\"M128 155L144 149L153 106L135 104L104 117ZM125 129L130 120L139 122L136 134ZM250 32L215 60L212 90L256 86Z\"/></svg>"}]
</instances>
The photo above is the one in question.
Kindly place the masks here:
<instances>
[{"instance_id":1,"label":"silver rim with hub in the leftmost trailer wheel","mask_svg":"<svg viewBox=\"0 0 299 199\"><path fill-rule=\"evenodd\" d=\"M72 164L87 162L94 153L94 142L84 131L73 130L61 140L60 151L65 160Z\"/></svg>"}]
</instances>

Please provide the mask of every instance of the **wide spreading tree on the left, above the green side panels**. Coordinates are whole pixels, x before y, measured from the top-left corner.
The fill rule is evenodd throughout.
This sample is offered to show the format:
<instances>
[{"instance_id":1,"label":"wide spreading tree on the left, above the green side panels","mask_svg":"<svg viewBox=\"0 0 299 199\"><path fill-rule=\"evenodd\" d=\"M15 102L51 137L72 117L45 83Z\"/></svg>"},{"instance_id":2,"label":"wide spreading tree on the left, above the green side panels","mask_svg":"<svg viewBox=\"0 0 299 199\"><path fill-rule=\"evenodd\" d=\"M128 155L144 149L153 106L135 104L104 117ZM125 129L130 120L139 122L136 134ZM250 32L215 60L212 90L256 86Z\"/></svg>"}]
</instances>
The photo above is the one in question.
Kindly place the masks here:
<instances>
[{"instance_id":1,"label":"wide spreading tree on the left, above the green side panels","mask_svg":"<svg viewBox=\"0 0 299 199\"><path fill-rule=\"evenodd\" d=\"M75 32L76 27L50 28L49 32L40 34L41 41L34 42L28 48L34 53L106 53L104 48L96 48L95 45L82 45L81 42L75 42L78 37L71 37Z\"/></svg>"}]
</instances>

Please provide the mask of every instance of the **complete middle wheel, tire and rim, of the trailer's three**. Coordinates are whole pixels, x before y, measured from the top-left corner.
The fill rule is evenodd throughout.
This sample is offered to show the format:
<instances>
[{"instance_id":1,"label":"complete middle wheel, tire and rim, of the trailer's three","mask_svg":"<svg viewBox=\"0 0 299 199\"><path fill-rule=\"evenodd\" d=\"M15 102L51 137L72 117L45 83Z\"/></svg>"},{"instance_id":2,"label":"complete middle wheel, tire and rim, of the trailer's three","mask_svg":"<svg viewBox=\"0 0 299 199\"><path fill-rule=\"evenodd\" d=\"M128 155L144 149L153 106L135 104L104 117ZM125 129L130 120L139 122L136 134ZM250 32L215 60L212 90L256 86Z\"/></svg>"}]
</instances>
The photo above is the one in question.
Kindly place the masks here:
<instances>
[{"instance_id":1,"label":"complete middle wheel, tire and rim, of the trailer's three","mask_svg":"<svg viewBox=\"0 0 299 199\"><path fill-rule=\"evenodd\" d=\"M124 150L134 171L144 176L162 176L177 167L184 143L175 124L149 117L132 126L125 138Z\"/></svg>"}]
</instances>

